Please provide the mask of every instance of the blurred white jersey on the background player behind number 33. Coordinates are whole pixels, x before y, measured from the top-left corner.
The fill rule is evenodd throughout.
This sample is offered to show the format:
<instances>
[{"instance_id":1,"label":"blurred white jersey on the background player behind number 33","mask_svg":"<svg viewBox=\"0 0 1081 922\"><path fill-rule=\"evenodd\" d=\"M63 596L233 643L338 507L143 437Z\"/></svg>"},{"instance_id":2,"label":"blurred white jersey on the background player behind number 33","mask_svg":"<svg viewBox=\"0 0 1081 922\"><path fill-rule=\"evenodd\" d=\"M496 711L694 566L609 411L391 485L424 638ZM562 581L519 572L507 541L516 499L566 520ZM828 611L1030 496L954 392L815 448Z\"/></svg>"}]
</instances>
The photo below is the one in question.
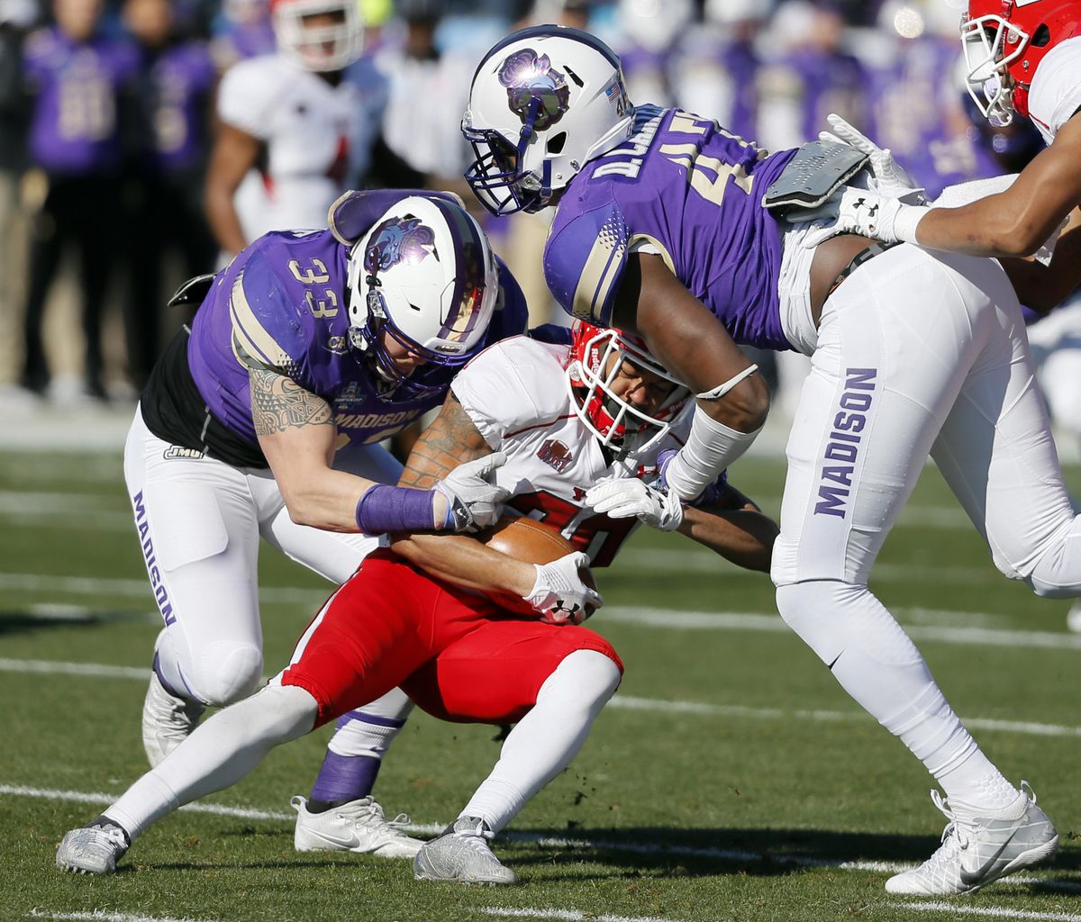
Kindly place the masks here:
<instances>
[{"instance_id":1,"label":"blurred white jersey on the background player behind number 33","mask_svg":"<svg viewBox=\"0 0 1081 922\"><path fill-rule=\"evenodd\" d=\"M222 121L266 145L237 190L249 240L270 230L326 226L334 200L357 181L370 104L356 81L336 86L281 54L242 61L218 90Z\"/></svg>"}]
</instances>

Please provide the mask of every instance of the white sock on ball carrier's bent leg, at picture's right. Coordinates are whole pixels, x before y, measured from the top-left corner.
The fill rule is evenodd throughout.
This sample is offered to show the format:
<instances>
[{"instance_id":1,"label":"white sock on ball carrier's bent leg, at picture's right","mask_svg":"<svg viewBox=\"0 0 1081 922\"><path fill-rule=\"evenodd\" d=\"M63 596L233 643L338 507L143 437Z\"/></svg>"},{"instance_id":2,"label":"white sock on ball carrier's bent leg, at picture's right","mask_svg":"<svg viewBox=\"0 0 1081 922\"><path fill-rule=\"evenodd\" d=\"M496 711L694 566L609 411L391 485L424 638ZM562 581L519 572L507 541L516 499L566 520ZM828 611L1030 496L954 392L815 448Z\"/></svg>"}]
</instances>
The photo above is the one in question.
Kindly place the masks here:
<instances>
[{"instance_id":1,"label":"white sock on ball carrier's bent leg, at picture's right","mask_svg":"<svg viewBox=\"0 0 1081 922\"><path fill-rule=\"evenodd\" d=\"M604 654L566 656L537 692L537 703L507 736L492 774L459 816L477 816L497 832L582 748L589 727L619 685L619 669Z\"/></svg>"}]
</instances>

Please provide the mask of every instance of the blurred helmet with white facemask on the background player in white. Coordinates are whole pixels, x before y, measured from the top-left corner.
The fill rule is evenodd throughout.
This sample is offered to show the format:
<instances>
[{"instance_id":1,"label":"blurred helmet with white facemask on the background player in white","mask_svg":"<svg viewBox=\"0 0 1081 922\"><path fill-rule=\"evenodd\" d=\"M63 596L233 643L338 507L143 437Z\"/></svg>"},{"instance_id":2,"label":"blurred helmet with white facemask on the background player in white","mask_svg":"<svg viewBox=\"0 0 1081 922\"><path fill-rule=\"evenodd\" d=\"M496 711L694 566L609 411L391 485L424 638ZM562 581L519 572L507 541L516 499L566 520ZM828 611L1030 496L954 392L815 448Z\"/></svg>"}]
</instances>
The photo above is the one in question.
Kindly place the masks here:
<instances>
[{"instance_id":1,"label":"blurred helmet with white facemask on the background player in white","mask_svg":"<svg viewBox=\"0 0 1081 922\"><path fill-rule=\"evenodd\" d=\"M306 22L319 15L334 22ZM360 0L270 0L270 19L278 49L305 70L342 70L364 46Z\"/></svg>"}]
</instances>

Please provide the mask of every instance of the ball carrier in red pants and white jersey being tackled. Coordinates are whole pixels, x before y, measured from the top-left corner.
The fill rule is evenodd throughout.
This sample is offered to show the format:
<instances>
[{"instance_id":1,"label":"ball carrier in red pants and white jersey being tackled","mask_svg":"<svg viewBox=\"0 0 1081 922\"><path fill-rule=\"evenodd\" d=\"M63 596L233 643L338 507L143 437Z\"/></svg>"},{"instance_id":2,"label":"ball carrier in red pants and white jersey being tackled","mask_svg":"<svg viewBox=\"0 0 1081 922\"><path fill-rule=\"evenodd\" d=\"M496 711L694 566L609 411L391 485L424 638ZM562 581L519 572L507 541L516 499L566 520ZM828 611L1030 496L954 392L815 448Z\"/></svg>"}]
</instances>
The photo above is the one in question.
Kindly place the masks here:
<instances>
[{"instance_id":1,"label":"ball carrier in red pants and white jersey being tackled","mask_svg":"<svg viewBox=\"0 0 1081 922\"><path fill-rule=\"evenodd\" d=\"M503 340L451 388L401 482L426 486L450 466L503 453L495 477L512 494L508 504L560 529L579 550L539 566L472 538L399 536L393 548L404 559L386 550L366 558L305 631L290 666L208 720L98 819L70 831L59 867L115 870L156 819L236 783L273 746L403 684L441 719L516 724L458 818L417 853L415 876L517 883L488 842L570 763L623 669L606 640L578 626L601 603L578 574L590 559L606 565L638 521L595 513L590 487L601 483L613 509L753 569L768 566L776 529L723 479L712 510L684 510L640 479L685 436L689 392L617 331L582 324L570 347ZM470 589L520 599L510 611ZM531 610L543 617L513 613Z\"/></svg>"}]
</instances>

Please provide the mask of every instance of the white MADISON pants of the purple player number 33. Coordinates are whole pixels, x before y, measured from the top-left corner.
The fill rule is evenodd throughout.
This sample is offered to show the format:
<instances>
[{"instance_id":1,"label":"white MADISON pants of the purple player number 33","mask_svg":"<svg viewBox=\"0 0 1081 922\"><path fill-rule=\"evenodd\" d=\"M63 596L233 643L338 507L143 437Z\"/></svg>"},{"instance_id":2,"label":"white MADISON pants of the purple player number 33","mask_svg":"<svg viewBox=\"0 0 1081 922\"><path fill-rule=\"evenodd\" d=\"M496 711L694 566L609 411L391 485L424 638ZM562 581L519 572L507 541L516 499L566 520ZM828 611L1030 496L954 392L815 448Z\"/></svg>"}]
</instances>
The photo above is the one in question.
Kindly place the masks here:
<instances>
[{"instance_id":1,"label":"white MADISON pants of the purple player number 33","mask_svg":"<svg viewBox=\"0 0 1081 922\"><path fill-rule=\"evenodd\" d=\"M157 438L135 411L124 479L165 623L159 669L177 692L221 706L250 695L263 674L259 535L335 585L352 575L379 538L297 525L269 470L193 454ZM397 483L401 471L378 445L349 452L336 466L383 483ZM298 624L310 614L298 612ZM391 694L404 706L404 695Z\"/></svg>"}]
</instances>

